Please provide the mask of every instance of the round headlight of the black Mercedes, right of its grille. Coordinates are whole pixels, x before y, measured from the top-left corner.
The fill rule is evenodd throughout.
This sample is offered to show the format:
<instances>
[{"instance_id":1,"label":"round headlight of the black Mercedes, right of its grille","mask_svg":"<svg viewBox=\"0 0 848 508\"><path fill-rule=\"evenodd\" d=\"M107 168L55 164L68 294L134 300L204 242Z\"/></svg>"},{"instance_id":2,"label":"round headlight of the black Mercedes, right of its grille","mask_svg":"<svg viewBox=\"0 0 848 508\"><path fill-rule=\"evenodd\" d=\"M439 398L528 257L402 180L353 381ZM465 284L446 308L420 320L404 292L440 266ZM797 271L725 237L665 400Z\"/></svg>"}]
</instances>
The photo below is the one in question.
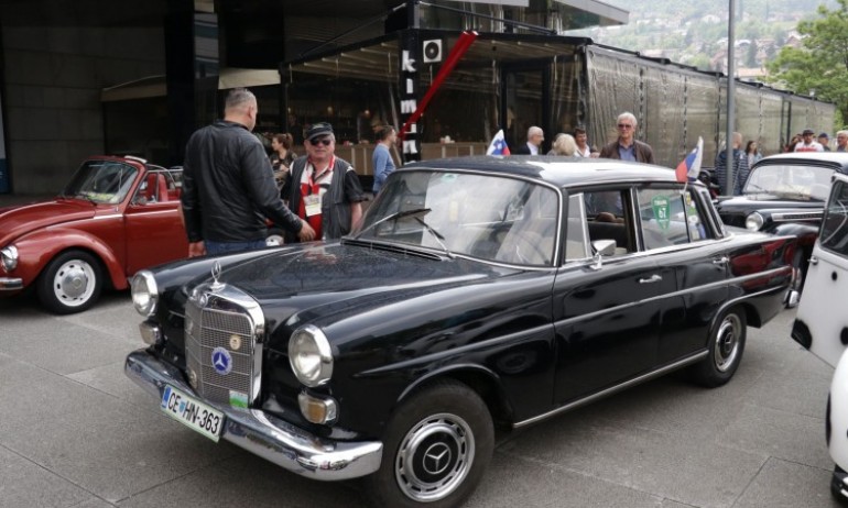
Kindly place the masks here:
<instances>
[{"instance_id":1,"label":"round headlight of the black Mercedes, right of its grille","mask_svg":"<svg viewBox=\"0 0 848 508\"><path fill-rule=\"evenodd\" d=\"M308 387L327 383L333 376L333 350L318 327L298 328L289 340L289 363L297 379Z\"/></svg>"}]
</instances>

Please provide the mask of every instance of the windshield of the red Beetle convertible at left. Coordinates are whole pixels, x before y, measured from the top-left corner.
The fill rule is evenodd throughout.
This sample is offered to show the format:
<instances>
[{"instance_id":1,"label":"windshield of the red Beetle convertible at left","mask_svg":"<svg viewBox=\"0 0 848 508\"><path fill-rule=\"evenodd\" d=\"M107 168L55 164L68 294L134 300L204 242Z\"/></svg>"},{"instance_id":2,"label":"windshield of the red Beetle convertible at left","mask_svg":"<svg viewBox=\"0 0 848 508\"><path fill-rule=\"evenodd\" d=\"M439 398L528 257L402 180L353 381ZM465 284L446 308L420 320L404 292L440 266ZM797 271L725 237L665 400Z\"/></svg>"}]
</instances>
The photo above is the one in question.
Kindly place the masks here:
<instances>
[{"instance_id":1,"label":"windshield of the red Beetle convertible at left","mask_svg":"<svg viewBox=\"0 0 848 508\"><path fill-rule=\"evenodd\" d=\"M127 197L137 173L133 166L115 161L86 161L62 196L96 203L118 203Z\"/></svg>"}]
</instances>

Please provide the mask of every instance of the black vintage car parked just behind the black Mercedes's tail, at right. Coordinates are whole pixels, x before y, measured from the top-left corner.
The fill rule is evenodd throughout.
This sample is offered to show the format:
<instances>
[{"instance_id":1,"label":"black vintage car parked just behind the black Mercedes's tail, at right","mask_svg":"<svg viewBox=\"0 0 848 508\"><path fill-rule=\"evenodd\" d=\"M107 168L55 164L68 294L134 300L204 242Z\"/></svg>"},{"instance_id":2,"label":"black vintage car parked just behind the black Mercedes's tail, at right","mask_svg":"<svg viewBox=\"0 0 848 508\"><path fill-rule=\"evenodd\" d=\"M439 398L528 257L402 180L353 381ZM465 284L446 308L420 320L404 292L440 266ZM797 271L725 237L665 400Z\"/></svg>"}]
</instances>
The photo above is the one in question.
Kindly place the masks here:
<instances>
[{"instance_id":1,"label":"black vintage car parked just behind the black Mercedes's tail, at right","mask_svg":"<svg viewBox=\"0 0 848 508\"><path fill-rule=\"evenodd\" d=\"M764 157L751 168L742 196L721 199L716 208L725 224L796 236L798 249L793 264L803 278L834 173L848 174L848 153L803 152Z\"/></svg>"}]
</instances>

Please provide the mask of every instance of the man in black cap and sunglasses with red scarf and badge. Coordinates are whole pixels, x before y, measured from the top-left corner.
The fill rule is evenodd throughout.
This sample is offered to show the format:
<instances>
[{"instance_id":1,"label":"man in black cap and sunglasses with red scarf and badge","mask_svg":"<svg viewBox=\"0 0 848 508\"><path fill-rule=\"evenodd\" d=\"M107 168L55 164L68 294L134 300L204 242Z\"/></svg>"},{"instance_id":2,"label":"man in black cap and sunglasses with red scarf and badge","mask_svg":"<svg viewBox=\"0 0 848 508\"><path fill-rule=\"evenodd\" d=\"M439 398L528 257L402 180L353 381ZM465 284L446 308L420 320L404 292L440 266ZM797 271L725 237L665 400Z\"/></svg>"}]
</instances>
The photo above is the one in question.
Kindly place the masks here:
<instances>
[{"instance_id":1,"label":"man in black cap and sunglasses with red scarf and badge","mask_svg":"<svg viewBox=\"0 0 848 508\"><path fill-rule=\"evenodd\" d=\"M289 208L315 229L317 239L339 239L362 218L362 186L354 167L335 155L333 125L315 123L304 139L306 155L292 163L292 177L282 196ZM286 240L295 239L287 235Z\"/></svg>"}]
</instances>

